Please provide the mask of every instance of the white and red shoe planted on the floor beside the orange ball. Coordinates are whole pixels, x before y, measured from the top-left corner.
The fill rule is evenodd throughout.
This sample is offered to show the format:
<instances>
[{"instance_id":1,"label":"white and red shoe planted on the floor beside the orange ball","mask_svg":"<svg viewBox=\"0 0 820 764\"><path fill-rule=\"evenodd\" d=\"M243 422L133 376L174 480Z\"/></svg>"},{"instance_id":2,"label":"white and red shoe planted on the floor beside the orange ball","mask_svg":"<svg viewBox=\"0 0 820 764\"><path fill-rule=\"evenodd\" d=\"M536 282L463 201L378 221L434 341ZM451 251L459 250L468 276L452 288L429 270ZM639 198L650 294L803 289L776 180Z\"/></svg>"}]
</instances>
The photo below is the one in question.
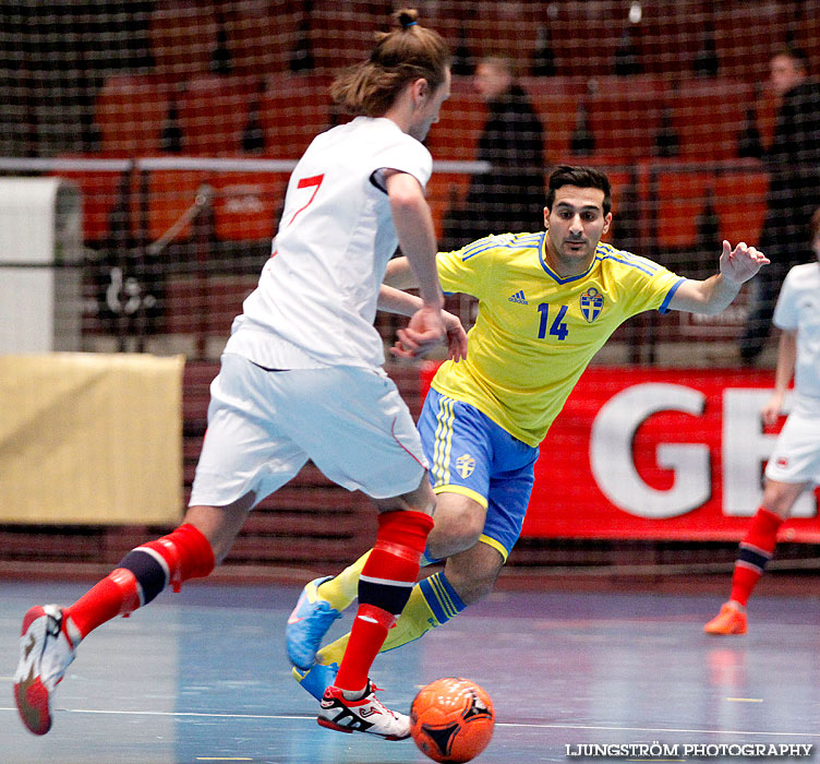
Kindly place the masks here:
<instances>
[{"instance_id":1,"label":"white and red shoe planted on the floor beside the orange ball","mask_svg":"<svg viewBox=\"0 0 820 764\"><path fill-rule=\"evenodd\" d=\"M337 732L367 732L385 740L410 737L410 717L382 705L376 697L377 687L367 680L362 697L351 701L337 687L329 687L322 696L316 721Z\"/></svg>"}]
</instances>

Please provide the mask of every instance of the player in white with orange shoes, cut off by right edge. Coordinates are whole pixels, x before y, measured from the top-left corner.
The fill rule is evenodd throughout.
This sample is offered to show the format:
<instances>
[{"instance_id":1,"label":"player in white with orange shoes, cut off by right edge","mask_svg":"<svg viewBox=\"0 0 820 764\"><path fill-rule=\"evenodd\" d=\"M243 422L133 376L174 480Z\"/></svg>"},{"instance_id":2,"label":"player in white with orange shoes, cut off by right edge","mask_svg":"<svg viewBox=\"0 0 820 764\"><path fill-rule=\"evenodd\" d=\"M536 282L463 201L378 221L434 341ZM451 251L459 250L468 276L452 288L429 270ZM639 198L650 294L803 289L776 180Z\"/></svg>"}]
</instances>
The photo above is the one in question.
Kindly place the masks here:
<instances>
[{"instance_id":1,"label":"player in white with orange shoes, cut off by right edge","mask_svg":"<svg viewBox=\"0 0 820 764\"><path fill-rule=\"evenodd\" d=\"M774 425L794 377L794 403L765 467L763 501L747 529L732 577L732 593L704 631L745 634L746 604L777 542L777 529L799 496L820 484L820 210L811 218L818 262L795 265L781 287L773 323L781 330L774 393L763 421Z\"/></svg>"}]
</instances>

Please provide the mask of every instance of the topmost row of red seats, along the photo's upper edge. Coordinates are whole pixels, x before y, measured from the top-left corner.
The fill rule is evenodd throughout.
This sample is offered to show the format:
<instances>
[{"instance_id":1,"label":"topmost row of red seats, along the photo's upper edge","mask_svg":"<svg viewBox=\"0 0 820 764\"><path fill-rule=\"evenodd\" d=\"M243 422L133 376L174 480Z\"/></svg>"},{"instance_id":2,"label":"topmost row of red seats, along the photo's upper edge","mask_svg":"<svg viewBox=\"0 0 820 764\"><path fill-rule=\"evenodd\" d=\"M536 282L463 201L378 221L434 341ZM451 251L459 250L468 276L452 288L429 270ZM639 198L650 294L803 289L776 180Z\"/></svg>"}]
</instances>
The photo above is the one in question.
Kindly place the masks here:
<instances>
[{"instance_id":1,"label":"topmost row of red seats, along the photo's upper edge","mask_svg":"<svg viewBox=\"0 0 820 764\"><path fill-rule=\"evenodd\" d=\"M159 0L149 44L157 72L177 80L212 71L220 58L237 74L285 71L297 48L333 73L366 58L391 10L373 0ZM614 73L628 45L647 74L691 73L711 50L720 76L755 82L787 35L810 57L820 49L818 14L805 0L652 0L640 3L638 21L620 0L447 0L420 11L473 60L510 56L522 73L543 38L560 76Z\"/></svg>"}]
</instances>

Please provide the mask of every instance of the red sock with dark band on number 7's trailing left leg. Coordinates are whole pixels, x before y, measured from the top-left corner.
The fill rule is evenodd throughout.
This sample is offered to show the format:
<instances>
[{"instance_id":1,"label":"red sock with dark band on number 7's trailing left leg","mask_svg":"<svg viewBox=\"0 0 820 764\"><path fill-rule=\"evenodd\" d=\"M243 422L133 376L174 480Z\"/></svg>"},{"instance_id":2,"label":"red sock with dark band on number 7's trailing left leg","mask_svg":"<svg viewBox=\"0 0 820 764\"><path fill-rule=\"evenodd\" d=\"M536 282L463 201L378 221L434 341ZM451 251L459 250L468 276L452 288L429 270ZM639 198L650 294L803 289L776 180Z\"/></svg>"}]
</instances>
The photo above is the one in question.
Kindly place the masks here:
<instances>
[{"instance_id":1,"label":"red sock with dark band on number 7's trailing left leg","mask_svg":"<svg viewBox=\"0 0 820 764\"><path fill-rule=\"evenodd\" d=\"M128 616L150 602L166 586L203 577L214 570L214 552L207 538L185 524L132 549L96 586L64 609L82 637L117 616Z\"/></svg>"}]
</instances>

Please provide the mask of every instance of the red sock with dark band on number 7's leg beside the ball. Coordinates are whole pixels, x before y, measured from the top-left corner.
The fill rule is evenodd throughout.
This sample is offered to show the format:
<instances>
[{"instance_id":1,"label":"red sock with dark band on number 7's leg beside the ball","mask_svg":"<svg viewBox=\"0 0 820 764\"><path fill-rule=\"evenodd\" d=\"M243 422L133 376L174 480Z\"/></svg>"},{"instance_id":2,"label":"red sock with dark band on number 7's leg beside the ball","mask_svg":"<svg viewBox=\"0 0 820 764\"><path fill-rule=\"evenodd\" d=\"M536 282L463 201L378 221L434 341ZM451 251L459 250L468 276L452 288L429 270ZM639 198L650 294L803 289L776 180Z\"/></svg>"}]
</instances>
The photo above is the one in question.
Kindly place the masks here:
<instances>
[{"instance_id":1,"label":"red sock with dark band on number 7's leg beside the ball","mask_svg":"<svg viewBox=\"0 0 820 764\"><path fill-rule=\"evenodd\" d=\"M433 518L422 512L378 515L378 535L359 580L359 610L336 687L361 690L387 632L407 604Z\"/></svg>"}]
</instances>

